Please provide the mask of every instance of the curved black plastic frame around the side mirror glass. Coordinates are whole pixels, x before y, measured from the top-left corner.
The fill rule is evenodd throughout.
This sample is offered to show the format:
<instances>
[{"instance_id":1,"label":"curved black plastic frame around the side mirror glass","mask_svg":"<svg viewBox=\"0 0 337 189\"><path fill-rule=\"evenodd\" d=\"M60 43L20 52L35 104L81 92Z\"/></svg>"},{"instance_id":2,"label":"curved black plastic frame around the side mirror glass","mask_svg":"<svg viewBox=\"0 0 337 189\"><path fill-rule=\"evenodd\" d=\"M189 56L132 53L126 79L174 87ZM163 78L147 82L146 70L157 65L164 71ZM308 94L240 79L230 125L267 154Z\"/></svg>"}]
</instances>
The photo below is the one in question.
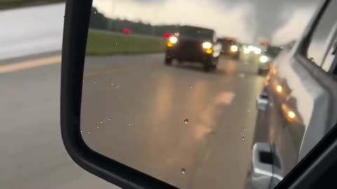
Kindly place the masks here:
<instances>
[{"instance_id":1,"label":"curved black plastic frame around the side mirror glass","mask_svg":"<svg viewBox=\"0 0 337 189\"><path fill-rule=\"evenodd\" d=\"M91 4L91 0L68 0L65 8L60 115L67 153L86 171L121 188L175 188L92 151L81 137L81 90Z\"/></svg>"}]
</instances>

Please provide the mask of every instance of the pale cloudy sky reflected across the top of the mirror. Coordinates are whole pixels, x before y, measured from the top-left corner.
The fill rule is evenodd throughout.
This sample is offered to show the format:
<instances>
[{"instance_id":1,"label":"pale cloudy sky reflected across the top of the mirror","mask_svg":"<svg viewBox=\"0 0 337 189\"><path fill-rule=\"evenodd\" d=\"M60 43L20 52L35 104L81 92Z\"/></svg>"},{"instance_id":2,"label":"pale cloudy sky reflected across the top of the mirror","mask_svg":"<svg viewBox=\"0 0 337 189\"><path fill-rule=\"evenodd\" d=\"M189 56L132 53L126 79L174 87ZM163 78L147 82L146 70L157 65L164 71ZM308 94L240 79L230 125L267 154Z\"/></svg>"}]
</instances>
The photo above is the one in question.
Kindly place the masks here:
<instances>
[{"instance_id":1,"label":"pale cloudy sky reflected across the top of the mirror","mask_svg":"<svg viewBox=\"0 0 337 189\"><path fill-rule=\"evenodd\" d=\"M302 34L319 0L93 0L110 18L197 25L239 41L287 43Z\"/></svg>"}]
</instances>

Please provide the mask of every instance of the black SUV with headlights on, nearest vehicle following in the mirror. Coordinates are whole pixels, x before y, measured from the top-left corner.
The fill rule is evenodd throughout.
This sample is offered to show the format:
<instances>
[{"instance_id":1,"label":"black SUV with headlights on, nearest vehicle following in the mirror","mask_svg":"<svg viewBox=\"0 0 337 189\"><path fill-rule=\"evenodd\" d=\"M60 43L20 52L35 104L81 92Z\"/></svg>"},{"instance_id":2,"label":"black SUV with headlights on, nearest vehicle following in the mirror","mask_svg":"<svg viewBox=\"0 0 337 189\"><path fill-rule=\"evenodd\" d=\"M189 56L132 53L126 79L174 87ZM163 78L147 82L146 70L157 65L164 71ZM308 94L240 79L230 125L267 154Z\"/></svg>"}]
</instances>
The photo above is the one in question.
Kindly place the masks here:
<instances>
[{"instance_id":1,"label":"black SUV with headlights on, nearest vehicle following in the mirror","mask_svg":"<svg viewBox=\"0 0 337 189\"><path fill-rule=\"evenodd\" d=\"M200 62L205 71L216 69L221 45L216 42L215 31L202 27L180 26L166 43L165 64L173 59L179 62Z\"/></svg>"}]
</instances>

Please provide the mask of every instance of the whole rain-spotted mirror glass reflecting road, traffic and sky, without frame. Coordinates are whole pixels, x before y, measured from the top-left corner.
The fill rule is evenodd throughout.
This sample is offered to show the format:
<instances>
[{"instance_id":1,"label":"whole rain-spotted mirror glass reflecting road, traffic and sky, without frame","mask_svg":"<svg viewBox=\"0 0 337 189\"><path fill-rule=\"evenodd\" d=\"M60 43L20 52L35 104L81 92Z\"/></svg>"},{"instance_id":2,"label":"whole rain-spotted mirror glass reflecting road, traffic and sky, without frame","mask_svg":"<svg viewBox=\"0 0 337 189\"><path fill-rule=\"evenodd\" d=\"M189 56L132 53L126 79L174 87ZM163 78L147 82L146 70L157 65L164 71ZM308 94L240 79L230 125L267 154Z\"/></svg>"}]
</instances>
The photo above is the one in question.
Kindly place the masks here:
<instances>
[{"instance_id":1,"label":"whole rain-spotted mirror glass reflecting road, traffic and sky, without frame","mask_svg":"<svg viewBox=\"0 0 337 189\"><path fill-rule=\"evenodd\" d=\"M311 91L286 57L317 7L307 0L94 0L84 141L178 188L276 185L316 143L304 145L317 111Z\"/></svg>"}]
</instances>

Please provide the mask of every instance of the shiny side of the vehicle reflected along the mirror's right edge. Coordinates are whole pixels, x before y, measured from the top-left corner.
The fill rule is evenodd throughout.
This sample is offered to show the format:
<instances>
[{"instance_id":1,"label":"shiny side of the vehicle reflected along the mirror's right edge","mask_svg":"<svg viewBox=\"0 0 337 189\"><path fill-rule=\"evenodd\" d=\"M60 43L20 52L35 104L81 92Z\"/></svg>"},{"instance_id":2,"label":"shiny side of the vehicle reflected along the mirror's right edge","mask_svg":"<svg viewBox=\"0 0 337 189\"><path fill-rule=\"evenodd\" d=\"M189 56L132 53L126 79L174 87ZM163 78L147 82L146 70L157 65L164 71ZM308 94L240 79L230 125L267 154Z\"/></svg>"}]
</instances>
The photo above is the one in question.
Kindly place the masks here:
<instances>
[{"instance_id":1,"label":"shiny side of the vehicle reflected along the mirror's right edge","mask_svg":"<svg viewBox=\"0 0 337 189\"><path fill-rule=\"evenodd\" d=\"M263 102L258 109L263 111L258 111L255 133L268 134L273 159L269 188L274 188L337 123L337 114L331 115L337 111L337 79L331 74L336 73L336 34L331 34L336 33L336 6L335 0L324 1L303 37L291 50L282 50L266 76L261 94L267 96L268 106L258 99ZM254 137L253 144L264 142L263 134Z\"/></svg>"}]
</instances>

